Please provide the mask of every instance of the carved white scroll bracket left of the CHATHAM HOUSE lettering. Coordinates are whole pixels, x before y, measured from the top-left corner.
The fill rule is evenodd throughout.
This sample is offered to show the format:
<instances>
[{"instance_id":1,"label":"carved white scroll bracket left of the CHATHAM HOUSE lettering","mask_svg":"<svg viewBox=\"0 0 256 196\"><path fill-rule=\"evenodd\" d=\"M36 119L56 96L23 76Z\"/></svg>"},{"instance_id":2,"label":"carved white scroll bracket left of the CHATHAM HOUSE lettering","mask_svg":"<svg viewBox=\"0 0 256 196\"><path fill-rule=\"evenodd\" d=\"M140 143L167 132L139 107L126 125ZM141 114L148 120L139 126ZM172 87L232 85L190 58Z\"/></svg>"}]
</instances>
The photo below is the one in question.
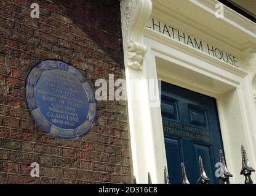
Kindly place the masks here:
<instances>
[{"instance_id":1,"label":"carved white scroll bracket left of the CHATHAM HOUSE lettering","mask_svg":"<svg viewBox=\"0 0 256 196\"><path fill-rule=\"evenodd\" d=\"M121 0L124 61L132 69L142 70L146 53L142 32L151 10L151 0Z\"/></svg>"}]
</instances>

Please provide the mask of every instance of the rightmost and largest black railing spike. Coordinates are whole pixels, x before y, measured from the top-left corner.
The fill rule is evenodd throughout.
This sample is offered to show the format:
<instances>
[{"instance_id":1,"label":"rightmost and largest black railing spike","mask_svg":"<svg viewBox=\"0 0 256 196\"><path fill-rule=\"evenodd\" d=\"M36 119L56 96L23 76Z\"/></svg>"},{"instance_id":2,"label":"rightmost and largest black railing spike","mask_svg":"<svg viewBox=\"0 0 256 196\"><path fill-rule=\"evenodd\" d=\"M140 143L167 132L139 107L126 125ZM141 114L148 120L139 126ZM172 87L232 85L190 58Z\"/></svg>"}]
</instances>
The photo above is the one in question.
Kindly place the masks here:
<instances>
[{"instance_id":1,"label":"rightmost and largest black railing spike","mask_svg":"<svg viewBox=\"0 0 256 196\"><path fill-rule=\"evenodd\" d=\"M252 166L249 164L249 160L247 157L246 149L244 146L241 146L241 153L242 153L242 170L240 172L240 175L244 175L246 177L246 180L244 181L245 184L253 184L252 178L250 178L250 175L252 174L252 171L255 171Z\"/></svg>"}]
</instances>

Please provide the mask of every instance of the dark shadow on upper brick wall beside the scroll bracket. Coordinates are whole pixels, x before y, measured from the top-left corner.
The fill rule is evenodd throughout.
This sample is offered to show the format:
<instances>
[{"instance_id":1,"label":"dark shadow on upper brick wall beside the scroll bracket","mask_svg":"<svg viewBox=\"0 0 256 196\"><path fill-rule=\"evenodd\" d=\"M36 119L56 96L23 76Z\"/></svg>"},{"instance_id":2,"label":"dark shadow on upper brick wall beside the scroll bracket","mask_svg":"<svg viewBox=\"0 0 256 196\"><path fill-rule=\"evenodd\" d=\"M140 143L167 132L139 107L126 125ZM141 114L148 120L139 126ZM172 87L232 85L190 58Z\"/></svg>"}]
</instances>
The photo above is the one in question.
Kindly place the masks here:
<instances>
[{"instance_id":1,"label":"dark shadow on upper brick wall beside the scroll bracket","mask_svg":"<svg viewBox=\"0 0 256 196\"><path fill-rule=\"evenodd\" d=\"M70 25L75 39L95 50L87 55L123 66L118 0L52 2L45 5L51 17Z\"/></svg>"}]
</instances>

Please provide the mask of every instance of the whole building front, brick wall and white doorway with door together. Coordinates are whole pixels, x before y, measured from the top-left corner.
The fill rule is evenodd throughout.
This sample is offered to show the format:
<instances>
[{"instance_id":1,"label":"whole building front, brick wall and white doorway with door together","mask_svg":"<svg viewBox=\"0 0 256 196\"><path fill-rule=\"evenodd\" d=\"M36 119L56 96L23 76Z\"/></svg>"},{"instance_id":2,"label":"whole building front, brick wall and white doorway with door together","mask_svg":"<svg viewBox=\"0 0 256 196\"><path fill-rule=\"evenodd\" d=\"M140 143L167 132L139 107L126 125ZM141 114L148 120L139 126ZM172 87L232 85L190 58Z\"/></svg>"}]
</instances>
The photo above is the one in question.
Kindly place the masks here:
<instances>
[{"instance_id":1,"label":"whole building front, brick wall and white doorway with door together","mask_svg":"<svg viewBox=\"0 0 256 196\"><path fill-rule=\"evenodd\" d=\"M182 183L182 162L196 183L199 156L220 183L220 150L230 183L244 183L241 145L256 168L255 21L217 0L0 6L0 183L148 183L148 173L164 183L165 168L170 183ZM54 137L25 97L28 74L45 59L76 67L95 92L98 79L108 88L125 79L126 99L109 90L89 134Z\"/></svg>"}]
</instances>

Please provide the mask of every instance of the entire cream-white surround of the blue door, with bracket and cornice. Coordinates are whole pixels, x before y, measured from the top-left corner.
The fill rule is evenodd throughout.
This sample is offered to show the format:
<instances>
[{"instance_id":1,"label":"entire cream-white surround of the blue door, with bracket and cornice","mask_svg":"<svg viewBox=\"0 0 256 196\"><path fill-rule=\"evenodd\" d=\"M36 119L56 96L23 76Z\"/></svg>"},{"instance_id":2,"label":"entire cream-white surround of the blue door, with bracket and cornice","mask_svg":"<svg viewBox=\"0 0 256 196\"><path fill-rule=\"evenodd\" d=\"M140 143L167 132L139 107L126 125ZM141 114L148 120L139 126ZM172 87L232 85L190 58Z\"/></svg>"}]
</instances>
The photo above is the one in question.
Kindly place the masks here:
<instances>
[{"instance_id":1,"label":"entire cream-white surround of the blue door, with bracket and cornice","mask_svg":"<svg viewBox=\"0 0 256 196\"><path fill-rule=\"evenodd\" d=\"M201 18L188 20L186 15L180 14L177 7L167 9L164 5L158 5L158 0L153 1L154 4L151 0L121 0L120 2L132 171L137 183L148 183L148 172L151 174L153 183L164 183L166 153L160 100L159 97L153 101L150 99L150 89L147 83L148 80L158 79L159 69L156 69L158 66L156 58L165 59L170 64L177 64L180 67L186 67L186 70L193 70L199 76L206 76L221 84L234 87L233 91L214 96L207 88L201 88L202 86L195 88L190 83L180 82L180 86L184 85L185 88L217 98L222 137L225 138L223 145L226 160L229 170L234 175L234 178L231 178L231 183L244 183L242 176L239 176L241 170L240 141L247 149L250 163L256 165L256 155L254 155L256 110L253 96L254 90L256 97L256 83L254 82L256 50L254 43L246 42L247 39L254 38L251 31L253 24L248 23L247 20L230 9L225 9L226 17L223 20L218 20L220 23L204 25L200 22ZM191 10L194 14L197 15L197 12L201 11L204 13L204 17L215 19L216 0L189 2L197 6L196 9ZM239 65L248 70L250 74L246 70L232 67L198 50L146 29L146 21L150 18L153 6L155 7L154 12L159 10L156 12L159 17L176 21L181 29L188 29L191 34L204 37L209 40L209 43L217 43L220 48L232 51L241 61ZM231 25L230 30L215 34L215 31L212 30L215 27L218 28L220 24ZM234 39L233 36L236 32L239 32L241 36L239 40L243 39L246 42L244 45L236 42L238 39ZM231 42L231 40L233 41ZM148 50L147 53L146 50ZM164 71L170 70L172 69L167 66ZM177 78L169 77L170 79L175 82ZM130 84L131 80L137 80L135 88ZM156 88L156 93L159 93L158 88ZM228 110L232 107L236 109L234 112ZM235 118L239 119L239 123L235 121ZM232 129L237 129L237 124L240 127L237 135L230 137L230 134L233 133ZM252 174L252 179L255 180L254 175Z\"/></svg>"}]
</instances>

